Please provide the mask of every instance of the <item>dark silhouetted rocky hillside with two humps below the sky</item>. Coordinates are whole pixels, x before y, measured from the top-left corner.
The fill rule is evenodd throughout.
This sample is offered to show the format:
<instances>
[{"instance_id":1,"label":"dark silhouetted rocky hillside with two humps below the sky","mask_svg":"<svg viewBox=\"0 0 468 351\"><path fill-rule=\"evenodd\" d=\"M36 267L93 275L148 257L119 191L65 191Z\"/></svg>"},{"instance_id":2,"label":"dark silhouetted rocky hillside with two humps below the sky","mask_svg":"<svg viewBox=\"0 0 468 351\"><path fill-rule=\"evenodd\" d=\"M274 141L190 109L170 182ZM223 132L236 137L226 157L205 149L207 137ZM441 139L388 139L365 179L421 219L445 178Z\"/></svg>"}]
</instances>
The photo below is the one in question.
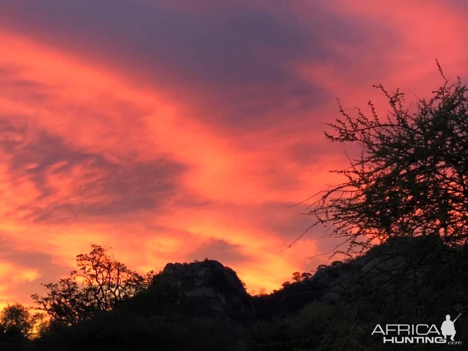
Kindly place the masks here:
<instances>
[{"instance_id":1,"label":"dark silhouetted rocky hillside with two humps below the sky","mask_svg":"<svg viewBox=\"0 0 468 351\"><path fill-rule=\"evenodd\" d=\"M235 272L217 261L168 264L149 289L113 311L54 326L21 346L3 340L0 349L401 350L371 335L377 323L439 328L446 314L459 313L456 340L464 344L467 254L439 239L393 238L264 296L248 295Z\"/></svg>"}]
</instances>

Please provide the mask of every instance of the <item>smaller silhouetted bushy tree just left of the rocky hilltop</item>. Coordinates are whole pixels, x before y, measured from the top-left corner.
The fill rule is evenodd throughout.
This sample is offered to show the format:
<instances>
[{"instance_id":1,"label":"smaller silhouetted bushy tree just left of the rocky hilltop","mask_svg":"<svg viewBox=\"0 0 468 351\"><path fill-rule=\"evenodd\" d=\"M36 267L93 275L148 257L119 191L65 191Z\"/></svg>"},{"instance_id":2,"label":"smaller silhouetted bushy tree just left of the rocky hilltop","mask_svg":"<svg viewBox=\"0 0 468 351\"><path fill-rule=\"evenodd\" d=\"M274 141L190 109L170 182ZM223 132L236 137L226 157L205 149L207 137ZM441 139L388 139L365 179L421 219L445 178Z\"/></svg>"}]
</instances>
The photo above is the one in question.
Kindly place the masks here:
<instances>
[{"instance_id":1,"label":"smaller silhouetted bushy tree just left of the rocky hilltop","mask_svg":"<svg viewBox=\"0 0 468 351\"><path fill-rule=\"evenodd\" d=\"M153 271L140 275L116 261L105 248L92 245L92 249L77 256L78 270L70 272L68 278L44 284L46 296L32 295L54 321L71 325L90 319L151 284Z\"/></svg>"}]
</instances>

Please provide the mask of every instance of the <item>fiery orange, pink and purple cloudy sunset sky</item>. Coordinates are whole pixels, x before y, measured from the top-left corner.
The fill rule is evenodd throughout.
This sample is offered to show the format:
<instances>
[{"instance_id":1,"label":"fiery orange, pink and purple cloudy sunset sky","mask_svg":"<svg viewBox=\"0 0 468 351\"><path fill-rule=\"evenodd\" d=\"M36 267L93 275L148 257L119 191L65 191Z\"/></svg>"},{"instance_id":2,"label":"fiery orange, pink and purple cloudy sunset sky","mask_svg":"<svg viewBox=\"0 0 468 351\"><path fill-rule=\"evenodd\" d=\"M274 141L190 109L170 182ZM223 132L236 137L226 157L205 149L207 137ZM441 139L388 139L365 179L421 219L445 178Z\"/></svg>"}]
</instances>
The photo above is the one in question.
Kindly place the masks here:
<instances>
[{"instance_id":1,"label":"fiery orange, pink and purple cloudy sunset sky","mask_svg":"<svg viewBox=\"0 0 468 351\"><path fill-rule=\"evenodd\" d=\"M249 292L327 262L292 206L340 181L339 117L467 77L463 1L0 2L0 307L90 244L139 273L217 259Z\"/></svg>"}]
</instances>

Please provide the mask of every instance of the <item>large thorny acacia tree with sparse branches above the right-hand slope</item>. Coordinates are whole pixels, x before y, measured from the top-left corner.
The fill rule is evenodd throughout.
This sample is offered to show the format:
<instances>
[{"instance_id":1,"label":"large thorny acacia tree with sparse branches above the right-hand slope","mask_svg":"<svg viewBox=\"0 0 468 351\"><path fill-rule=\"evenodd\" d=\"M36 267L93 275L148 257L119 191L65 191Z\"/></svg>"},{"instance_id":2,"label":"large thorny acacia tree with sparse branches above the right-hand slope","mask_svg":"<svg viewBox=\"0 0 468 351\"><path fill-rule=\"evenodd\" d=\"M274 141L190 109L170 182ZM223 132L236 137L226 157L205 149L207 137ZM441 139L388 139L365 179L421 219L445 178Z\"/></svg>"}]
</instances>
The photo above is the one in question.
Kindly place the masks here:
<instances>
[{"instance_id":1,"label":"large thorny acacia tree with sparse branches above the right-hand slope","mask_svg":"<svg viewBox=\"0 0 468 351\"><path fill-rule=\"evenodd\" d=\"M467 87L460 78L449 84L437 66L444 83L431 98L407 107L402 92L378 85L390 104L387 117L372 102L369 115L357 109L351 116L339 105L342 117L328 124L329 140L357 144L361 153L332 171L346 181L317 194L307 214L316 219L311 228L324 224L327 235L342 238L347 254L392 236L468 242Z\"/></svg>"}]
</instances>

